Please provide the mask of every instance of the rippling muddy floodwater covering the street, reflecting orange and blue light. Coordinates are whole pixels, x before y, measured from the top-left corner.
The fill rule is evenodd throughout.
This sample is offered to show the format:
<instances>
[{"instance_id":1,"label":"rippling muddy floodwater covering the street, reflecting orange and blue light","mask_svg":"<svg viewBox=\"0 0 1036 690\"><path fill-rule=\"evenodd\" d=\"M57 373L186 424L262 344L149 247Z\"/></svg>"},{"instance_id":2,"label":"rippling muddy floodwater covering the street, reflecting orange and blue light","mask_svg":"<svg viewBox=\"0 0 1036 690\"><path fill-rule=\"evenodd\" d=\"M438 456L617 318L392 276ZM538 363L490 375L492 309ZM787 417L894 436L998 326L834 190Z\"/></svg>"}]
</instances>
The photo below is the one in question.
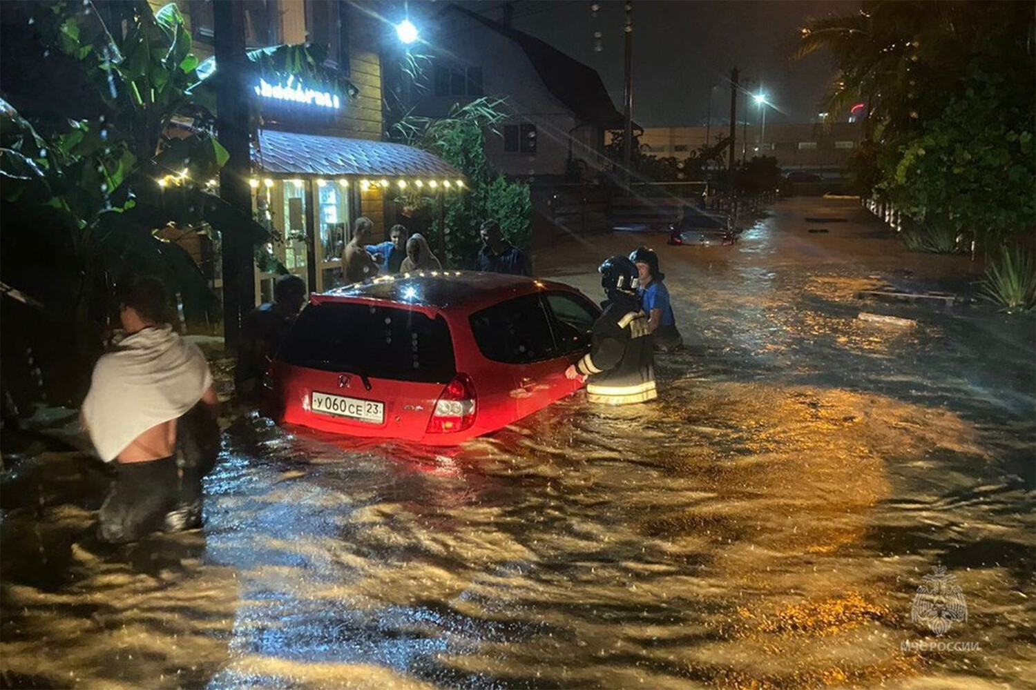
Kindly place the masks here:
<instances>
[{"instance_id":1,"label":"rippling muddy floodwater covering the street, reflecting orange and blue light","mask_svg":"<svg viewBox=\"0 0 1036 690\"><path fill-rule=\"evenodd\" d=\"M733 247L572 241L540 272L597 297L643 241L688 342L656 403L575 396L450 451L238 419L204 530L115 550L81 454L8 454L3 685L1031 687L1033 320L854 299L978 269L844 200ZM911 618L937 580L967 605L942 636Z\"/></svg>"}]
</instances>

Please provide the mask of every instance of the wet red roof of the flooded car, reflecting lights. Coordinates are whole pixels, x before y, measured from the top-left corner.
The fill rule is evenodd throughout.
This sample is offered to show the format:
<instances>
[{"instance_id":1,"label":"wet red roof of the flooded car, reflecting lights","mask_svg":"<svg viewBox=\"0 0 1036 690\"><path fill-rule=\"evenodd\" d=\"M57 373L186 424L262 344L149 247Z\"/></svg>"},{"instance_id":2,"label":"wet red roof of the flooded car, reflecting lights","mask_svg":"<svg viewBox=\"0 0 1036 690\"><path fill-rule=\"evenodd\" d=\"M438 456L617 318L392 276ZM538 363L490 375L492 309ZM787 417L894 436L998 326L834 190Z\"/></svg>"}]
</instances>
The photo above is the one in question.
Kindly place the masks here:
<instances>
[{"instance_id":1,"label":"wet red roof of the flooded car, reflecting lights","mask_svg":"<svg viewBox=\"0 0 1036 690\"><path fill-rule=\"evenodd\" d=\"M418 271L379 275L371 280L311 296L313 302L383 301L436 309L477 311L511 297L541 290L578 292L563 282L505 273Z\"/></svg>"}]
</instances>

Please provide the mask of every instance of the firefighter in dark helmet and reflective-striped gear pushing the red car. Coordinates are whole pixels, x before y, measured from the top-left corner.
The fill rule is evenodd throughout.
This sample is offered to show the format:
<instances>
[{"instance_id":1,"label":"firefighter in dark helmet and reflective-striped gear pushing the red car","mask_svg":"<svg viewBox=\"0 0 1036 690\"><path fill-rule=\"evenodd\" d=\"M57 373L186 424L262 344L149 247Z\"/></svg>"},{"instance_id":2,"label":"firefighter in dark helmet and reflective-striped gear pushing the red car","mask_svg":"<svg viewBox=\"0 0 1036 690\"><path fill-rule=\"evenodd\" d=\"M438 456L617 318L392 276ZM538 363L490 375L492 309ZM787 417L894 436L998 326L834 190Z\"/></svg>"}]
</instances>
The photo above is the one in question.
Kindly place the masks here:
<instances>
[{"instance_id":1,"label":"firefighter in dark helmet and reflective-striped gear pushing the red car","mask_svg":"<svg viewBox=\"0 0 1036 690\"><path fill-rule=\"evenodd\" d=\"M640 308L637 268L612 257L598 269L608 301L594 324L589 354L570 366L569 379L588 378L586 398L604 404L654 400L655 360L648 316Z\"/></svg>"}]
</instances>

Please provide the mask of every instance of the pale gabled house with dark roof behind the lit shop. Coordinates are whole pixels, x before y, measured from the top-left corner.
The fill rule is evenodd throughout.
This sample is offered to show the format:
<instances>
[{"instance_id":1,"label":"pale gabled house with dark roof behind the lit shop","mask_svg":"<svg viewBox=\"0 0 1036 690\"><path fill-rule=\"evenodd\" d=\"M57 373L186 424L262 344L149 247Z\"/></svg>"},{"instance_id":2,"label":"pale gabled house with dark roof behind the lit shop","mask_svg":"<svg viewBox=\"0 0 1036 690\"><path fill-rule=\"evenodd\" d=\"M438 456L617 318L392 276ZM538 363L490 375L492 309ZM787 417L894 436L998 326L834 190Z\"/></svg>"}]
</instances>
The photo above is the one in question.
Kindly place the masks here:
<instances>
[{"instance_id":1,"label":"pale gabled house with dark roof behind the lit shop","mask_svg":"<svg viewBox=\"0 0 1036 690\"><path fill-rule=\"evenodd\" d=\"M593 178L604 164L605 132L624 126L622 113L597 71L518 31L503 11L494 22L447 5L430 27L429 43L441 50L432 53L425 89L403 97L415 115L443 117L455 103L505 96L511 117L502 137L486 140L497 170L551 181L571 164Z\"/></svg>"}]
</instances>

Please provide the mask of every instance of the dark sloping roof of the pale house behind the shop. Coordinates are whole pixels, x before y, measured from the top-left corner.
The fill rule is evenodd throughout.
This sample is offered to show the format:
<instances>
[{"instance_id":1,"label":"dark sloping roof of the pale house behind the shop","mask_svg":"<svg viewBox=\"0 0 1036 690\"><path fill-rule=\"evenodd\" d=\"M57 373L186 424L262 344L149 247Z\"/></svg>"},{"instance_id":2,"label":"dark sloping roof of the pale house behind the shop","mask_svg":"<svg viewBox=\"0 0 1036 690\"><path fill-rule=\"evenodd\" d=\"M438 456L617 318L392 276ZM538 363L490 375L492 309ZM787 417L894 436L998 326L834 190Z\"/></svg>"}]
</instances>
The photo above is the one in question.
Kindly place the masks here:
<instances>
[{"instance_id":1,"label":"dark sloping roof of the pale house behind the shop","mask_svg":"<svg viewBox=\"0 0 1036 690\"><path fill-rule=\"evenodd\" d=\"M601 76L593 67L527 33L493 22L459 5L452 4L449 7L518 43L547 90L575 113L577 118L605 129L622 129L626 126L623 114L615 110L608 90L601 82ZM634 128L638 128L636 124Z\"/></svg>"}]
</instances>

